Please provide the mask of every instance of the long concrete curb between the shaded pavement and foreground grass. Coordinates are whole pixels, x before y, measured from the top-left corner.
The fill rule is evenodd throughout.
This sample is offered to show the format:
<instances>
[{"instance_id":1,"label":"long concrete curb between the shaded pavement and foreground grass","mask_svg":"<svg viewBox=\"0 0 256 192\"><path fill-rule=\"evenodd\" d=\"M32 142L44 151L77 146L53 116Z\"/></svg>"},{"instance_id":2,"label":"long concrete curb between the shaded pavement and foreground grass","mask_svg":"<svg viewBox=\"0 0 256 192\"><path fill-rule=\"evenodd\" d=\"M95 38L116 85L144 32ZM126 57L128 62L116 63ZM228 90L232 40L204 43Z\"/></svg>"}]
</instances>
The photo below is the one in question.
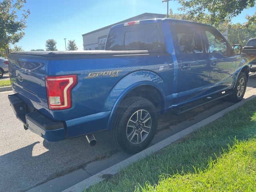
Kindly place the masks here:
<instances>
[{"instance_id":1,"label":"long concrete curb between the shaded pavement and foreground grass","mask_svg":"<svg viewBox=\"0 0 256 192\"><path fill-rule=\"evenodd\" d=\"M106 170L103 170L102 172L99 172L98 174L95 174L94 176L91 176L90 178L64 190L63 192L84 191L85 189L89 188L90 186L103 181L104 176L114 175L114 174L118 173L118 171L122 170L123 168L126 168L133 162L136 162L154 152L157 152L158 150L170 145L171 143L179 140L180 138L186 136L187 134L190 134L194 130L197 130L198 128L200 128L202 126L209 124L210 122L222 117L227 112L235 110L236 108L242 106L246 102L256 98L256 95L255 95L256 91L254 91L254 93L251 92L251 94L252 95L250 97L243 99L241 102L236 103L236 104L232 105L231 107L226 108L225 110L222 110L221 112L218 112L218 113L206 118L205 120L202 120L201 122L198 122L197 124L194 124L193 126L190 126L190 127L186 128L185 130L182 130L181 132L178 132L177 134L170 136L169 138L166 138L165 140L162 140L161 142L158 142L157 144L143 150L142 152L139 152L138 154L135 154L134 156L131 156L130 158L123 160L122 162L120 162L110 168L107 168Z\"/></svg>"}]
</instances>

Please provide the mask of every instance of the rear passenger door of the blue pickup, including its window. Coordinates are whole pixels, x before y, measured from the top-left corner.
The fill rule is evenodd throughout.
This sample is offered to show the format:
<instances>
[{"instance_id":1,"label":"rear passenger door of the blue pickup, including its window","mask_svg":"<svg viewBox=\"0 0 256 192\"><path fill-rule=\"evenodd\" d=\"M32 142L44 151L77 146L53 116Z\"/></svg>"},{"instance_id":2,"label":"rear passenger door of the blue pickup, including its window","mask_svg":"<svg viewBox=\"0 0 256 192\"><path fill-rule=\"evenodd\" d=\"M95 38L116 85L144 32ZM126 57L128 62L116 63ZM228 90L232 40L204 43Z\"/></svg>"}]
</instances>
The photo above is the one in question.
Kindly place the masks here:
<instances>
[{"instance_id":1,"label":"rear passenger door of the blue pickup, including its window","mask_svg":"<svg viewBox=\"0 0 256 192\"><path fill-rule=\"evenodd\" d=\"M178 105L206 96L210 59L197 25L171 25L178 59Z\"/></svg>"}]
</instances>

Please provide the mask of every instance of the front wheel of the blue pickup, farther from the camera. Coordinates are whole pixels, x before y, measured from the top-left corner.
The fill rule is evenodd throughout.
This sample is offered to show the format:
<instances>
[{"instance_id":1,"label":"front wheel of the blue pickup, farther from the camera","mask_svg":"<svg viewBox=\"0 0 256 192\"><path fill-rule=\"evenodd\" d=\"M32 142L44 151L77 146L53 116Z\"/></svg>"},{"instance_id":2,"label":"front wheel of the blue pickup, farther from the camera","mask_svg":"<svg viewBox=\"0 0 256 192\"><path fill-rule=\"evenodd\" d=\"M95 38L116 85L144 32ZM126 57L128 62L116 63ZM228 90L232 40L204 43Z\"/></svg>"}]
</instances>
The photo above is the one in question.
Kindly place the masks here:
<instances>
[{"instance_id":1,"label":"front wheel of the blue pickup, farther from the camera","mask_svg":"<svg viewBox=\"0 0 256 192\"><path fill-rule=\"evenodd\" d=\"M247 77L244 72L240 72L234 89L232 89L232 95L230 95L230 101L239 102L243 99L247 87Z\"/></svg>"}]
</instances>

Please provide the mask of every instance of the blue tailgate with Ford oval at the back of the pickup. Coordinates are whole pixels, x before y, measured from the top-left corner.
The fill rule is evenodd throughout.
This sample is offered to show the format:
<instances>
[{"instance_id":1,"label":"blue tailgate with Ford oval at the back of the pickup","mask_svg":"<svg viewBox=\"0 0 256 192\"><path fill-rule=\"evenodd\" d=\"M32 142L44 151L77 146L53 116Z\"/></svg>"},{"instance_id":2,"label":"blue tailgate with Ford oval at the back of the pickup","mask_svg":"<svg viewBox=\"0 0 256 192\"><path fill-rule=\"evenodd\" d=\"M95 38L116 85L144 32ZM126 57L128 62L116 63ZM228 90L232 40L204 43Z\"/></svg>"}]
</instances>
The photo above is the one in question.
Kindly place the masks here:
<instances>
[{"instance_id":1,"label":"blue tailgate with Ford oval at the back of the pickup","mask_svg":"<svg viewBox=\"0 0 256 192\"><path fill-rule=\"evenodd\" d=\"M9 55L9 74L14 93L43 114L48 114L45 88L47 57Z\"/></svg>"}]
</instances>

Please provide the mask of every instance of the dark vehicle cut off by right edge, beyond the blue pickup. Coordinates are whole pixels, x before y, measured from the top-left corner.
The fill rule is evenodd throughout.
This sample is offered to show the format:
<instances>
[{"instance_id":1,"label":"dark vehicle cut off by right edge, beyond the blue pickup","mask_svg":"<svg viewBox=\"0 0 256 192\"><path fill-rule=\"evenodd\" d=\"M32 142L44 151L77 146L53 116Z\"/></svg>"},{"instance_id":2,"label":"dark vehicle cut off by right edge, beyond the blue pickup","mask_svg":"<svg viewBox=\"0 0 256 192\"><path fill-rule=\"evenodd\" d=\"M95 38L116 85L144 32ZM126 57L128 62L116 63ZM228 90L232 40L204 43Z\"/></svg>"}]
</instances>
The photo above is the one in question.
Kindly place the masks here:
<instances>
[{"instance_id":1,"label":"dark vehicle cut off by right edge, beyond the blue pickup","mask_svg":"<svg viewBox=\"0 0 256 192\"><path fill-rule=\"evenodd\" d=\"M243 47L243 53L248 55L250 72L256 72L256 38L248 40Z\"/></svg>"}]
</instances>

